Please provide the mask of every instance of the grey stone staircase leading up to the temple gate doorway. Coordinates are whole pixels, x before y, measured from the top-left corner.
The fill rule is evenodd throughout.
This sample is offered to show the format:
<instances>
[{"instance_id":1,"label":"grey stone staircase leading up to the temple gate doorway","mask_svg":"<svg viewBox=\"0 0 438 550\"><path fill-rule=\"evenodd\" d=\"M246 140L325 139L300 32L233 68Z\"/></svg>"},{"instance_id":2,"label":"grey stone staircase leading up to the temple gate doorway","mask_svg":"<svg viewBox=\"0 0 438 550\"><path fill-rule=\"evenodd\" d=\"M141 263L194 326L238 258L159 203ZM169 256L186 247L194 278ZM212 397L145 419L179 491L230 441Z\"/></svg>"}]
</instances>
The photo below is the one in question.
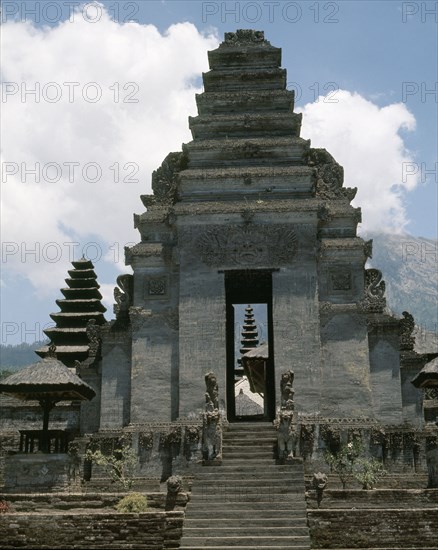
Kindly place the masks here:
<instances>
[{"instance_id":1,"label":"grey stone staircase leading up to the temple gate doorway","mask_svg":"<svg viewBox=\"0 0 438 550\"><path fill-rule=\"evenodd\" d=\"M230 424L222 465L195 476L181 549L310 549L303 466L276 464L275 448L272 424Z\"/></svg>"}]
</instances>

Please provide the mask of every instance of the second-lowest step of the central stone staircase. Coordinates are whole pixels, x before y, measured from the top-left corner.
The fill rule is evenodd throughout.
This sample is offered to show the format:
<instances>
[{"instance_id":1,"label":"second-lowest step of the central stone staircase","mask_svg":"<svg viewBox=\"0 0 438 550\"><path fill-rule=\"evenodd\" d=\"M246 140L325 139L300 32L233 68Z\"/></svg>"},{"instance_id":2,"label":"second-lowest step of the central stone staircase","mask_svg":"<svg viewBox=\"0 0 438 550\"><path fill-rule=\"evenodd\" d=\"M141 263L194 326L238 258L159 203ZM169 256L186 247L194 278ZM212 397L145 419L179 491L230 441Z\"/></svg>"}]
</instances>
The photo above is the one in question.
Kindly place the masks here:
<instances>
[{"instance_id":1,"label":"second-lowest step of the central stone staircase","mask_svg":"<svg viewBox=\"0 0 438 550\"><path fill-rule=\"evenodd\" d=\"M219 537L224 538L228 537L279 537L279 536L290 536L290 537L308 537L309 530L307 526L264 526L264 525L237 525L231 526L226 525L224 527L219 527L214 522L214 526L211 525L208 527L190 527L184 525L184 535L187 537Z\"/></svg>"}]
</instances>

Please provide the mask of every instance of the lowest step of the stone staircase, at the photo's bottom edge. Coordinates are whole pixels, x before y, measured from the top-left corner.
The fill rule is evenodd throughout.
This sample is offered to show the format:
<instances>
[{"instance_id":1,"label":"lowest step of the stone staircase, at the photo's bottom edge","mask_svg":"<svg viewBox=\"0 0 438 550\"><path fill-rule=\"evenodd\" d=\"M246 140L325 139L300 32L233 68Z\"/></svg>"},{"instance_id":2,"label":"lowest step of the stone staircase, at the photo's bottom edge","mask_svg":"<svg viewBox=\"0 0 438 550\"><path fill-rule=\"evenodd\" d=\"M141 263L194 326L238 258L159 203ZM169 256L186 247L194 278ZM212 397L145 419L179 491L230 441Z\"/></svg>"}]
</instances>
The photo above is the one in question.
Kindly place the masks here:
<instances>
[{"instance_id":1,"label":"lowest step of the stone staircase, at the photo's bottom edge","mask_svg":"<svg viewBox=\"0 0 438 550\"><path fill-rule=\"evenodd\" d=\"M186 537L183 536L180 548L230 548L248 546L249 548L258 548L259 546L277 546L280 548L310 548L310 538L300 536L279 536L279 537L257 537L257 536L242 536L242 537ZM307 546L306 546L307 544ZM269 547L269 546L268 546Z\"/></svg>"}]
</instances>

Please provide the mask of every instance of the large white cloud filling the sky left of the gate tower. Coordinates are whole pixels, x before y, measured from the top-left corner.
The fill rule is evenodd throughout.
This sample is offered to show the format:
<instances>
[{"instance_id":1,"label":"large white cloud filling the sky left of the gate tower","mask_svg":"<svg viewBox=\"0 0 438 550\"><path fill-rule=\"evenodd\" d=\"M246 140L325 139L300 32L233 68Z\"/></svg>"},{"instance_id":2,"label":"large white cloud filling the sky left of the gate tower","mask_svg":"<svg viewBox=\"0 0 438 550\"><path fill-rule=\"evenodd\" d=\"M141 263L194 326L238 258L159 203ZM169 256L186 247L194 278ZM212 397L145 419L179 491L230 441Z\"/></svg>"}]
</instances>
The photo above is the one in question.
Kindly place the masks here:
<instances>
[{"instance_id":1,"label":"large white cloud filling the sky left of the gate tower","mask_svg":"<svg viewBox=\"0 0 438 550\"><path fill-rule=\"evenodd\" d=\"M71 267L63 243L97 241L108 243L103 258L112 263L109 247L117 243L121 269L129 269L123 246L139 240L132 218L144 211L139 196L150 192L151 172L164 157L190 141L187 116L196 113L195 93L201 91L196 79L208 70L207 51L217 44L213 34L190 23L160 34L153 25L118 24L106 12L94 24L77 17L53 28L2 26L2 81L14 83L3 92L18 87L2 105L2 240L14 243L3 268L53 295ZM20 92L35 86L39 102L31 94L23 102ZM90 102L96 91L100 100ZM57 93L59 101L50 102ZM79 163L73 182L73 165L66 164L72 162ZM39 163L41 181L24 173L21 163L27 169ZM87 163L102 170L96 183L90 181L92 165L83 177ZM5 172L16 168L17 174ZM44 181L57 175L57 182ZM60 247L60 261L47 261L55 254L47 243ZM35 246L37 254L25 253Z\"/></svg>"}]
</instances>

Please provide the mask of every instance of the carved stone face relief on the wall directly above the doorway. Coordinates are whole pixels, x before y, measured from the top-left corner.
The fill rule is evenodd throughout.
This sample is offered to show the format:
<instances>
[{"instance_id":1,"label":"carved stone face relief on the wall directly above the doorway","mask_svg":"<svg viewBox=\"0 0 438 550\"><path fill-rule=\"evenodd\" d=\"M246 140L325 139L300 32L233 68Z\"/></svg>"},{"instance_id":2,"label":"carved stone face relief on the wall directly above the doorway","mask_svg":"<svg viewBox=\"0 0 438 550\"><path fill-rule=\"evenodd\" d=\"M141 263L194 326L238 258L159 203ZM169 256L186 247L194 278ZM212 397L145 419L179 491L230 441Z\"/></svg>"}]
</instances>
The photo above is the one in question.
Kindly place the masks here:
<instances>
[{"instance_id":1,"label":"carved stone face relief on the wall directly above the doorway","mask_svg":"<svg viewBox=\"0 0 438 550\"><path fill-rule=\"evenodd\" d=\"M289 263L297 251L297 237L287 225L210 226L196 240L207 265L253 266Z\"/></svg>"}]
</instances>

